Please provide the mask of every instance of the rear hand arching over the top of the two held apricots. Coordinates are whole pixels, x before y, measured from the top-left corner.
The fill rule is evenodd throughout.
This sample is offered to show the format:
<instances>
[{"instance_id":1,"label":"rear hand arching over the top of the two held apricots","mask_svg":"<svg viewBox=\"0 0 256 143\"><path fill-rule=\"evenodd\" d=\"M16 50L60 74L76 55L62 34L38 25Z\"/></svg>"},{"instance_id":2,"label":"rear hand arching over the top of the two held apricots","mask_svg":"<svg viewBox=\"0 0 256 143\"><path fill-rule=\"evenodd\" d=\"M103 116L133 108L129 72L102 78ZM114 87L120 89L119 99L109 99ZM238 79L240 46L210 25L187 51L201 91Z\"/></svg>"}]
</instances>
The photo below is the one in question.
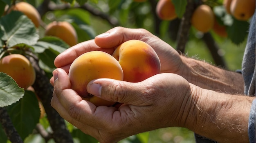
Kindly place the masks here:
<instances>
[{"instance_id":1,"label":"rear hand arching over the top of the two held apricots","mask_svg":"<svg viewBox=\"0 0 256 143\"><path fill-rule=\"evenodd\" d=\"M180 54L155 35L151 34L145 29L130 29L123 27L115 27L107 32L98 35L93 40L79 43L63 53L59 54L54 64L56 67L63 68L67 73L71 63L81 54L89 51L100 50L112 54L121 43L125 41L137 39L148 43L157 52L161 62L161 73L180 72L180 65L182 60ZM54 84L53 78L50 80Z\"/></svg>"}]
</instances>

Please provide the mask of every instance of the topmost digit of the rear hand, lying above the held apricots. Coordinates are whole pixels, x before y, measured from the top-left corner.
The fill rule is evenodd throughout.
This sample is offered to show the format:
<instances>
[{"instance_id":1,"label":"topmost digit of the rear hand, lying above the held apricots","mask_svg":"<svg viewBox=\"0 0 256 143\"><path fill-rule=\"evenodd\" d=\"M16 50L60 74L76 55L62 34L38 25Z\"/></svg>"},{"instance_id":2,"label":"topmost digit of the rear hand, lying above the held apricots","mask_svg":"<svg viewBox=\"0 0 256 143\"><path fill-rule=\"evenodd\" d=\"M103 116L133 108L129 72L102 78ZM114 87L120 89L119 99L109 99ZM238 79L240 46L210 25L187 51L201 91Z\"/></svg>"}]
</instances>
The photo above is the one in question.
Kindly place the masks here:
<instances>
[{"instance_id":1,"label":"topmost digit of the rear hand, lying above the held apricots","mask_svg":"<svg viewBox=\"0 0 256 143\"><path fill-rule=\"evenodd\" d=\"M101 35L95 37L95 43L101 48L115 48L121 43L131 39L137 39L146 42L150 32L144 29L130 29L124 27L115 27Z\"/></svg>"}]
</instances>

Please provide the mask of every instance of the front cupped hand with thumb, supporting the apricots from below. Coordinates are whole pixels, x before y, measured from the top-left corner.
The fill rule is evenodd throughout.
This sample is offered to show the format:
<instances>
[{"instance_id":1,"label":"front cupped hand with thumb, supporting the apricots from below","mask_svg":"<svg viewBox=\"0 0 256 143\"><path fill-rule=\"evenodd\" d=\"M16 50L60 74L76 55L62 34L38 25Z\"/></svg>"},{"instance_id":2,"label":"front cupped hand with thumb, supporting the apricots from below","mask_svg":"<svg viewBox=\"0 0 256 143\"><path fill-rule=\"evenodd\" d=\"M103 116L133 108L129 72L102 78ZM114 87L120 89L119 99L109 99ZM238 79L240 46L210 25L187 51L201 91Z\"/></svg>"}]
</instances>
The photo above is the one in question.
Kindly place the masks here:
<instances>
[{"instance_id":1,"label":"front cupped hand with thumb, supporting the apricots from below","mask_svg":"<svg viewBox=\"0 0 256 143\"><path fill-rule=\"evenodd\" d=\"M125 103L96 107L70 89L67 73L54 70L51 105L68 122L100 143L114 143L133 134L169 126L183 127L192 104L189 83L177 74L157 74L132 83L101 78L92 80L89 93ZM168 116L168 117L166 117Z\"/></svg>"}]
</instances>

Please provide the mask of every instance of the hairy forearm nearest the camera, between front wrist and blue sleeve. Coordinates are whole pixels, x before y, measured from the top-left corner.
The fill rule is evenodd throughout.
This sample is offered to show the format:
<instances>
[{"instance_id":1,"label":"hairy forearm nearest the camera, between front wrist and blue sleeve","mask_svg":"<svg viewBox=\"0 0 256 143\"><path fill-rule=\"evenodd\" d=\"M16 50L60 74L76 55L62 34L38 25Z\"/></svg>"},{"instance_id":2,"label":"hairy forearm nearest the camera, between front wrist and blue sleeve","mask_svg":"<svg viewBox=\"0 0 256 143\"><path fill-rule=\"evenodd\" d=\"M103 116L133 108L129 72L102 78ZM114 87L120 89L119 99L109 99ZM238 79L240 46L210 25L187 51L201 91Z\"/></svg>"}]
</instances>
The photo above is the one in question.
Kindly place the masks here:
<instances>
[{"instance_id":1,"label":"hairy forearm nearest the camera, between front wrist and blue sleeve","mask_svg":"<svg viewBox=\"0 0 256 143\"><path fill-rule=\"evenodd\" d=\"M219 143L249 142L248 120L255 98L219 93L192 84L191 89L193 101L187 128Z\"/></svg>"}]
</instances>

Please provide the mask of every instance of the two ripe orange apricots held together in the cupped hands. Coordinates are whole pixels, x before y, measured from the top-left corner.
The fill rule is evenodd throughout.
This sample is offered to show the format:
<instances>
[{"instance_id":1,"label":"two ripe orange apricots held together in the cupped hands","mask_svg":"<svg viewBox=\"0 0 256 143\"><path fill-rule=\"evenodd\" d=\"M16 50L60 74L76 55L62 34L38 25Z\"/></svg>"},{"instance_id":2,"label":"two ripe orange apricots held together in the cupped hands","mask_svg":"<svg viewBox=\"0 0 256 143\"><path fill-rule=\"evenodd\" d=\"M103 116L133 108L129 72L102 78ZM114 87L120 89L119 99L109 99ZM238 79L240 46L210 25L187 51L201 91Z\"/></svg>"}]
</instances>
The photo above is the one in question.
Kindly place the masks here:
<instances>
[{"instance_id":1,"label":"two ripe orange apricots held together in the cupped hands","mask_svg":"<svg viewBox=\"0 0 256 143\"><path fill-rule=\"evenodd\" d=\"M87 92L86 87L91 80L112 78L140 82L159 72L160 61L153 48L143 41L129 40L119 45L112 55L102 51L82 54L73 61L68 75L71 88L85 100L96 106L113 106L116 102Z\"/></svg>"}]
</instances>

